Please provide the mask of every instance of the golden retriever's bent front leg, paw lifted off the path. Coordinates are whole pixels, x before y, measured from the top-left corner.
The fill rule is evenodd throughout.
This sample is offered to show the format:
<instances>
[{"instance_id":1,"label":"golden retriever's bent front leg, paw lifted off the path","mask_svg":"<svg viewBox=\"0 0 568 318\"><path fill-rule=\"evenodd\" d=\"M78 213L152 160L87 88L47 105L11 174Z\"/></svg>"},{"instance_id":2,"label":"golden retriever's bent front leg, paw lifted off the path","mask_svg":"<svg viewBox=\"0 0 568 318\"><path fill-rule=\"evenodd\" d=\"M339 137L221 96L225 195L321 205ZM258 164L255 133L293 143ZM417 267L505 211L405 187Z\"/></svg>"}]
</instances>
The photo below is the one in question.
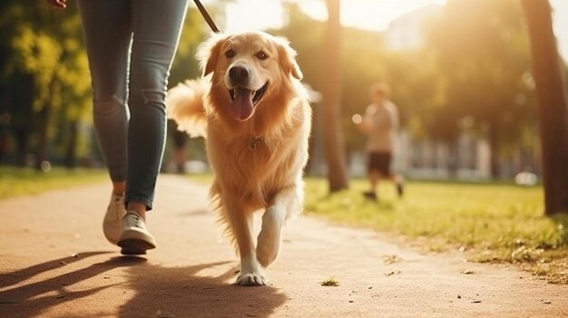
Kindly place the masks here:
<instances>
[{"instance_id":1,"label":"golden retriever's bent front leg, paw lifted off the path","mask_svg":"<svg viewBox=\"0 0 568 318\"><path fill-rule=\"evenodd\" d=\"M291 208L299 208L298 188L289 187L276 194L273 204L262 215L257 244L257 259L260 265L267 267L279 254L282 226L289 216Z\"/></svg>"}]
</instances>

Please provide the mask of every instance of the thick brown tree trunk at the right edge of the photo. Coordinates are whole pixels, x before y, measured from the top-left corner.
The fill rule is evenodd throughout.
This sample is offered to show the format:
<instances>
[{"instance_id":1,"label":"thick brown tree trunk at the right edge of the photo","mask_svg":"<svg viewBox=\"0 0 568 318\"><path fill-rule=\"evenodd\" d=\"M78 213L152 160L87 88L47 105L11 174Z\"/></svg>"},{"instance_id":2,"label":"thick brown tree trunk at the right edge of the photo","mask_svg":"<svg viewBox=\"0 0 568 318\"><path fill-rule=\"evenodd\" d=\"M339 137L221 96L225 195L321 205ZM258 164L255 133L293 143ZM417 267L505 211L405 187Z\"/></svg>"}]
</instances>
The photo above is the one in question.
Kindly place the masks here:
<instances>
[{"instance_id":1,"label":"thick brown tree trunk at the right edge of the photo","mask_svg":"<svg viewBox=\"0 0 568 318\"><path fill-rule=\"evenodd\" d=\"M543 152L544 213L568 211L568 97L548 0L521 0L531 39Z\"/></svg>"}]
</instances>

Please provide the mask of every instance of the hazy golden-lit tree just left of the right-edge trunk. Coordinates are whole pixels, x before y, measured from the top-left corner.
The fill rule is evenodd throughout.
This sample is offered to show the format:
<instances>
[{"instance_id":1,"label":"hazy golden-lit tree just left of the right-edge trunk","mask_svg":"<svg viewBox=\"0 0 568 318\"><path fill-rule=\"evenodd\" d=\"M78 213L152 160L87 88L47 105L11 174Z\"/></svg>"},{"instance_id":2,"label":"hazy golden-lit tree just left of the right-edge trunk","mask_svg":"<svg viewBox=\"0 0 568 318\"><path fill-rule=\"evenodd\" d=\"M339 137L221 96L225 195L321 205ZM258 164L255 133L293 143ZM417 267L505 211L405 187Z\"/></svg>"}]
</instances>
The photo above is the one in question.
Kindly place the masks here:
<instances>
[{"instance_id":1,"label":"hazy golden-lit tree just left of the right-edge trunk","mask_svg":"<svg viewBox=\"0 0 568 318\"><path fill-rule=\"evenodd\" d=\"M466 119L485 135L498 177L504 146L522 143L533 121L531 88L523 81L529 69L523 14L516 0L450 0L443 10L426 24L446 87L445 105L436 114Z\"/></svg>"}]
</instances>

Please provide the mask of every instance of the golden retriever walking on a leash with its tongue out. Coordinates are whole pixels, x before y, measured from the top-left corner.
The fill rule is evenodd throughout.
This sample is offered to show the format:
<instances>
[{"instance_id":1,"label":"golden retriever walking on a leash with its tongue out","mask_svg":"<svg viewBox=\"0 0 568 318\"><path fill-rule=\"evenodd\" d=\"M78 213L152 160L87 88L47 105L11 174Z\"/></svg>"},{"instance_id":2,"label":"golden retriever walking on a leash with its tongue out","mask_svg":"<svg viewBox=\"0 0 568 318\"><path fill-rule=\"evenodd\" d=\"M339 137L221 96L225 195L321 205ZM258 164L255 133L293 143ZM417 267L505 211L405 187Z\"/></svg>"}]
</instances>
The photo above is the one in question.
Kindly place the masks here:
<instances>
[{"instance_id":1,"label":"golden retriever walking on a leash with its tongue out","mask_svg":"<svg viewBox=\"0 0 568 318\"><path fill-rule=\"evenodd\" d=\"M204 79L168 92L168 116L205 137L211 201L240 255L236 284L268 284L262 269L303 202L311 109L295 56L281 37L214 34L198 53ZM256 243L255 212L262 212Z\"/></svg>"}]
</instances>

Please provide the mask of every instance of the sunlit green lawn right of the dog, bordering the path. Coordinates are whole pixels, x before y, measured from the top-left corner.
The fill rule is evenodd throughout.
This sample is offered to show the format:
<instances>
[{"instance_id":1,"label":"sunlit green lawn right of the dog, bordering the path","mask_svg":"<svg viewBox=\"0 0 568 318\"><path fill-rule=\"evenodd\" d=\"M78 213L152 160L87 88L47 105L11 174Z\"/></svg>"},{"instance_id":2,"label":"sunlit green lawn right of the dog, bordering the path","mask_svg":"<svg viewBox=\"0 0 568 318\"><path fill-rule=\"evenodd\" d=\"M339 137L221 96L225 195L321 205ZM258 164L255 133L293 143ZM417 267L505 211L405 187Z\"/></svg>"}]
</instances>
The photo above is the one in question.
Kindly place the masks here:
<instances>
[{"instance_id":1,"label":"sunlit green lawn right of the dog, bordering the path","mask_svg":"<svg viewBox=\"0 0 568 318\"><path fill-rule=\"evenodd\" d=\"M470 260L520 265L551 283L568 284L568 215L544 217L543 189L510 184L392 183L379 202L361 195L367 180L328 195L323 178L306 180L307 213L348 226L401 234L427 251L465 251Z\"/></svg>"}]
</instances>

